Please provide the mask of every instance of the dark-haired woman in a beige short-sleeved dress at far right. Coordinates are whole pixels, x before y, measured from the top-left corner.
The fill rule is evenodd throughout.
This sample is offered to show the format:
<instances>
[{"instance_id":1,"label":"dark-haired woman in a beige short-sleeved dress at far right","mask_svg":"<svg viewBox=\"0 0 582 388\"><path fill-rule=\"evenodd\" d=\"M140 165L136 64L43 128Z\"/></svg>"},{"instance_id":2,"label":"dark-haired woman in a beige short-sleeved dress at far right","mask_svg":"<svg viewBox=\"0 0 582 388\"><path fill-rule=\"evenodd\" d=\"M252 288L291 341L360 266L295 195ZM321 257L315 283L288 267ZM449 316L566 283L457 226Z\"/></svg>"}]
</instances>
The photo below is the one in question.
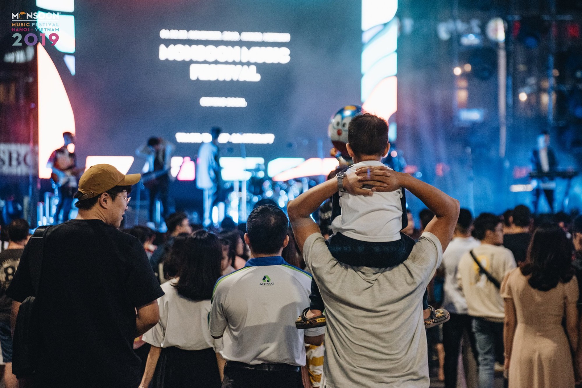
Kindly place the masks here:
<instances>
[{"instance_id":1,"label":"dark-haired woman in a beige short-sleeved dress at far right","mask_svg":"<svg viewBox=\"0 0 582 388\"><path fill-rule=\"evenodd\" d=\"M578 282L573 274L566 233L555 223L542 224L526 264L508 273L501 286L509 388L574 387Z\"/></svg>"}]
</instances>

